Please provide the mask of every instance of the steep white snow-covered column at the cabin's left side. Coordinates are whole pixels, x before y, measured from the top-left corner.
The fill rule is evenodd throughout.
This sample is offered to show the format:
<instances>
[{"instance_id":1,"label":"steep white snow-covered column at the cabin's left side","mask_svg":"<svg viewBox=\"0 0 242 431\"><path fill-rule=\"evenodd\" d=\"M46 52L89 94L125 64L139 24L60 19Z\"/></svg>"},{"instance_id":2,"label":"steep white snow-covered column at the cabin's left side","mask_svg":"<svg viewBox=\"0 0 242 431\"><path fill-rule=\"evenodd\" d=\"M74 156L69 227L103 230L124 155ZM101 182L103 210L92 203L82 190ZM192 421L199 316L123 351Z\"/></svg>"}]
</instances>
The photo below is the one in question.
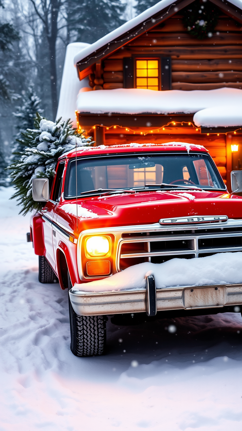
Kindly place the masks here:
<instances>
[{"instance_id":1,"label":"steep white snow-covered column at the cabin's left side","mask_svg":"<svg viewBox=\"0 0 242 431\"><path fill-rule=\"evenodd\" d=\"M77 52L80 52L89 45L90 44L85 44L83 42L75 42L66 47L66 57L56 118L62 117L64 120L70 118L71 121L73 121L74 127L76 127L76 97L81 88L88 86L88 79L85 78L79 81L75 66L73 66L73 59Z\"/></svg>"}]
</instances>

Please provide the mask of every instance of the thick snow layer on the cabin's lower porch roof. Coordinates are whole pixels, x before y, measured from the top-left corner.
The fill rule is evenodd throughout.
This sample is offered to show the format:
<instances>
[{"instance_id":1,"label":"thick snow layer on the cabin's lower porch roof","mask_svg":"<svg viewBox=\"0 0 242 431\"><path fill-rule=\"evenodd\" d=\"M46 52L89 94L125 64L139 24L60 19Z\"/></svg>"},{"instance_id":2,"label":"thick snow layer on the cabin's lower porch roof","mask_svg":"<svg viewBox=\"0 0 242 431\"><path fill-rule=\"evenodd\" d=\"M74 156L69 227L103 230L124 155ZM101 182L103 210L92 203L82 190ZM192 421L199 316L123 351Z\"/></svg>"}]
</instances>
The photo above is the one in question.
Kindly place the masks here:
<instances>
[{"instance_id":1,"label":"thick snow layer on the cabin's lower porch roof","mask_svg":"<svg viewBox=\"0 0 242 431\"><path fill-rule=\"evenodd\" d=\"M219 111L216 108L217 117L214 113L216 106L220 107ZM233 106L233 109L230 109L229 106ZM207 126L217 127L219 125L217 122L220 121L223 123L221 124L223 127L237 126L242 125L242 90L226 87L216 90L193 91L153 91L139 88L97 90L89 91L88 95L87 93L79 93L77 110L92 114L110 112L119 114L193 114L197 112L194 116L196 125L206 127L207 121ZM211 116L210 118L211 112L214 113L214 117ZM203 116L200 117L200 115ZM218 119L219 115L220 119ZM201 120L201 118L206 118L206 120Z\"/></svg>"}]
</instances>

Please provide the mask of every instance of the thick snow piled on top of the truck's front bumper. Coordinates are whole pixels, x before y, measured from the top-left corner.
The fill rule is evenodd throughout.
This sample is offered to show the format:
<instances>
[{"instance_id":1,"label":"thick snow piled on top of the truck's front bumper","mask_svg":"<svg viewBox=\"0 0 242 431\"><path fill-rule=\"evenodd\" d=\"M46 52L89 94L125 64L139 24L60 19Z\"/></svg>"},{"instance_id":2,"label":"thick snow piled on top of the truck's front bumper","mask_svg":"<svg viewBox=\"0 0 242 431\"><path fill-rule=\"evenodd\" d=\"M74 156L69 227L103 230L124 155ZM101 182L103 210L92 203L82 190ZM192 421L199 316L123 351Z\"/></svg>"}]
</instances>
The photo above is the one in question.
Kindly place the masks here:
<instances>
[{"instance_id":1,"label":"thick snow piled on top of the truck's front bumper","mask_svg":"<svg viewBox=\"0 0 242 431\"><path fill-rule=\"evenodd\" d=\"M218 253L199 259L171 259L164 263L144 262L105 278L74 285L72 292L113 292L145 289L145 276L154 274L157 289L242 282L242 252Z\"/></svg>"}]
</instances>

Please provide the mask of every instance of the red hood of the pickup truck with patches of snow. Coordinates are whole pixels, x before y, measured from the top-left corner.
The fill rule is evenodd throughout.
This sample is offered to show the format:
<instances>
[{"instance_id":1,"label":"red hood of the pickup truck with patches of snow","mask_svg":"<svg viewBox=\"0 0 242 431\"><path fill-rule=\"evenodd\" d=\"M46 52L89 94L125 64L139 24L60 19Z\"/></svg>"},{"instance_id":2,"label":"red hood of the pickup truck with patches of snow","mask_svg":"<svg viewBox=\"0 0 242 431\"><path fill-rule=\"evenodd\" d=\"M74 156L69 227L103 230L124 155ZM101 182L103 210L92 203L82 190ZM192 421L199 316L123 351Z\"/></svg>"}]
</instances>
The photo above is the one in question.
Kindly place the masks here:
<instances>
[{"instance_id":1,"label":"red hood of the pickup truck with patches of snow","mask_svg":"<svg viewBox=\"0 0 242 431\"><path fill-rule=\"evenodd\" d=\"M78 200L78 231L153 224L161 218L227 215L242 219L242 197L214 191L150 191ZM54 219L76 231L76 202L61 200Z\"/></svg>"}]
</instances>

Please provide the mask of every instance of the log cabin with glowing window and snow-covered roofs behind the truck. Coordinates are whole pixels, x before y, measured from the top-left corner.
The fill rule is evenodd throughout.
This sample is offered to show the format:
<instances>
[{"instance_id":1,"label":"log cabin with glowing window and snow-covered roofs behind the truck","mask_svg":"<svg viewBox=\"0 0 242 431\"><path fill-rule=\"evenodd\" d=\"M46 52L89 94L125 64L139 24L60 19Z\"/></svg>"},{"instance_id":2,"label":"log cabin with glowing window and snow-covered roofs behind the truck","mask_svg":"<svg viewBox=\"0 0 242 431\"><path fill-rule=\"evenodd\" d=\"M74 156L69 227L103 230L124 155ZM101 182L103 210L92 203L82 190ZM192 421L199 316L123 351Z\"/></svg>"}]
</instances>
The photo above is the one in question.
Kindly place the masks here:
<instances>
[{"instance_id":1,"label":"log cabin with glowing window and snow-covered roofs behind the truck","mask_svg":"<svg viewBox=\"0 0 242 431\"><path fill-rule=\"evenodd\" d=\"M214 28L201 38L191 34L188 13L196 10L201 25L208 6ZM79 51L72 102L73 117L78 96L79 131L95 145L201 144L230 187L231 170L242 169L241 0L161 0L94 44L70 45L72 59ZM70 74L63 79L62 92Z\"/></svg>"}]
</instances>

